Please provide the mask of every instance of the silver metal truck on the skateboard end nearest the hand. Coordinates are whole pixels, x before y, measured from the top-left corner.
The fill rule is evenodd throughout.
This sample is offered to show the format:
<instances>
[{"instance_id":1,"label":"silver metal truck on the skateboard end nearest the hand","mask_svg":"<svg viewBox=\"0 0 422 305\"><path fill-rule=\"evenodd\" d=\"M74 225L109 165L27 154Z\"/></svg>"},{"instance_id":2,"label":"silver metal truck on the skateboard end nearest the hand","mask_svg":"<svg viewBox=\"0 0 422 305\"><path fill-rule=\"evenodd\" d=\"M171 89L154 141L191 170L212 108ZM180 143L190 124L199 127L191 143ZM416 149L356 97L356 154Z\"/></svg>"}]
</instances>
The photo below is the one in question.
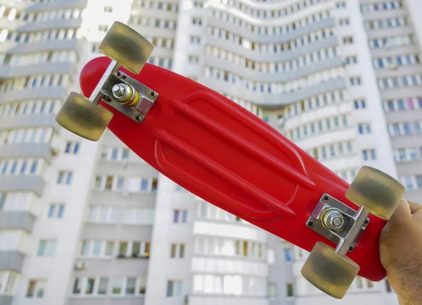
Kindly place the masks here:
<instances>
[{"instance_id":1,"label":"silver metal truck on the skateboard end nearest the hand","mask_svg":"<svg viewBox=\"0 0 422 305\"><path fill-rule=\"evenodd\" d=\"M361 206L359 211L343 204L328 194L323 194L306 222L320 235L337 244L335 252L341 255L352 252L369 225L369 211Z\"/></svg>"}]
</instances>

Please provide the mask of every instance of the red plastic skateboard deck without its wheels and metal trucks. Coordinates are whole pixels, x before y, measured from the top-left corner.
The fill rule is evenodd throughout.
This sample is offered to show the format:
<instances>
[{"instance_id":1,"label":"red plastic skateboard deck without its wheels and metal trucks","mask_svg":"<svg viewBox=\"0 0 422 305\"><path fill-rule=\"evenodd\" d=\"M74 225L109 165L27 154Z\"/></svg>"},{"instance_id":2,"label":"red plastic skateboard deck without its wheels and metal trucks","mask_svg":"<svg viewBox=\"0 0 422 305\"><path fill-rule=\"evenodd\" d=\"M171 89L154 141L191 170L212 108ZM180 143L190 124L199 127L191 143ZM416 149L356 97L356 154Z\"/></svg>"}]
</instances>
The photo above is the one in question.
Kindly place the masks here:
<instances>
[{"instance_id":1,"label":"red plastic skateboard deck without its wheels and metal trucks","mask_svg":"<svg viewBox=\"0 0 422 305\"><path fill-rule=\"evenodd\" d=\"M89 97L110 58L87 63L80 75ZM347 204L349 185L273 127L221 94L186 77L146 64L124 73L159 93L142 123L101 101L113 113L108 127L130 149L189 192L302 249L335 243L307 227L324 193ZM378 239L385 220L371 222L347 254L359 275L385 278Z\"/></svg>"}]
</instances>

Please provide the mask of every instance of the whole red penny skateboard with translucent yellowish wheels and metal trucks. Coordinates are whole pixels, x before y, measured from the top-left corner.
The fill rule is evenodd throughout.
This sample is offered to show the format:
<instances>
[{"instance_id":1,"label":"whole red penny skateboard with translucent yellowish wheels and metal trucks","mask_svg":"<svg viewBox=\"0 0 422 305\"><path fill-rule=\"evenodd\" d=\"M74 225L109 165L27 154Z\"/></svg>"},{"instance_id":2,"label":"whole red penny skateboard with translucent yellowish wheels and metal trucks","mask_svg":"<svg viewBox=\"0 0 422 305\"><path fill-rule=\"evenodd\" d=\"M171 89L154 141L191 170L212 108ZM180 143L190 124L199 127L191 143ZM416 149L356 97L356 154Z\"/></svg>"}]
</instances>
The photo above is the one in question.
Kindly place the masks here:
<instances>
[{"instance_id":1,"label":"whole red penny skateboard with translucent yellowish wheels and metal trucks","mask_svg":"<svg viewBox=\"0 0 422 305\"><path fill-rule=\"evenodd\" d=\"M311 251L302 275L333 297L357 274L385 278L378 239L403 185L369 167L348 185L243 107L146 63L153 47L122 23L99 49L113 60L87 63L60 125L94 141L110 128L189 192Z\"/></svg>"}]
</instances>

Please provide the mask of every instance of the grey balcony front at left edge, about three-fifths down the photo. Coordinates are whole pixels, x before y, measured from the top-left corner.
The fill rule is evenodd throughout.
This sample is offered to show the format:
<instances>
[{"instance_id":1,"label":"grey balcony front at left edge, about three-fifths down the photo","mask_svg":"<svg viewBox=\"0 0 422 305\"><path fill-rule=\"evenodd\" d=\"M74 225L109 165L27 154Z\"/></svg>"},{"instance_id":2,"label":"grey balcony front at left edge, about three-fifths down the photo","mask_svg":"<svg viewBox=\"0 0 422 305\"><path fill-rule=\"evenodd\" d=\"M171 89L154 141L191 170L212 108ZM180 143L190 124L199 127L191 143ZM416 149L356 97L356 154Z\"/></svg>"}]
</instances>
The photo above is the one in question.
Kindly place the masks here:
<instances>
[{"instance_id":1,"label":"grey balcony front at left edge, about three-fifths down the photo","mask_svg":"<svg viewBox=\"0 0 422 305\"><path fill-rule=\"evenodd\" d=\"M44 180L39 176L0 177L0 192L34 192L41 197L44 192L44 185Z\"/></svg>"}]
</instances>

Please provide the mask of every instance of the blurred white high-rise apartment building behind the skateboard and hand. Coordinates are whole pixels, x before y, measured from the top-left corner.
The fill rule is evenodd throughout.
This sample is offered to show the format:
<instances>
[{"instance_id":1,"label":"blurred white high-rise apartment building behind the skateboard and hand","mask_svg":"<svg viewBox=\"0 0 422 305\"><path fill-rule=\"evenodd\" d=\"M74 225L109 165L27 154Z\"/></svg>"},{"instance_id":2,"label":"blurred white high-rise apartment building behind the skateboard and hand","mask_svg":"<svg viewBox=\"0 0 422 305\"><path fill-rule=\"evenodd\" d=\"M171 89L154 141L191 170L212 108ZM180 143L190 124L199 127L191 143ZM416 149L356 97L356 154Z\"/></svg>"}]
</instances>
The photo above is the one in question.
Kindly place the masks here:
<instances>
[{"instance_id":1,"label":"blurred white high-rise apartment building behind the skateboard and hand","mask_svg":"<svg viewBox=\"0 0 422 305\"><path fill-rule=\"evenodd\" d=\"M150 63L241 104L347 182L373 166L420 202L421 11L0 0L0 304L397 305L387 280L327 297L300 275L306 251L163 178L111 132L85 141L55 116L119 20L155 46Z\"/></svg>"}]
</instances>

